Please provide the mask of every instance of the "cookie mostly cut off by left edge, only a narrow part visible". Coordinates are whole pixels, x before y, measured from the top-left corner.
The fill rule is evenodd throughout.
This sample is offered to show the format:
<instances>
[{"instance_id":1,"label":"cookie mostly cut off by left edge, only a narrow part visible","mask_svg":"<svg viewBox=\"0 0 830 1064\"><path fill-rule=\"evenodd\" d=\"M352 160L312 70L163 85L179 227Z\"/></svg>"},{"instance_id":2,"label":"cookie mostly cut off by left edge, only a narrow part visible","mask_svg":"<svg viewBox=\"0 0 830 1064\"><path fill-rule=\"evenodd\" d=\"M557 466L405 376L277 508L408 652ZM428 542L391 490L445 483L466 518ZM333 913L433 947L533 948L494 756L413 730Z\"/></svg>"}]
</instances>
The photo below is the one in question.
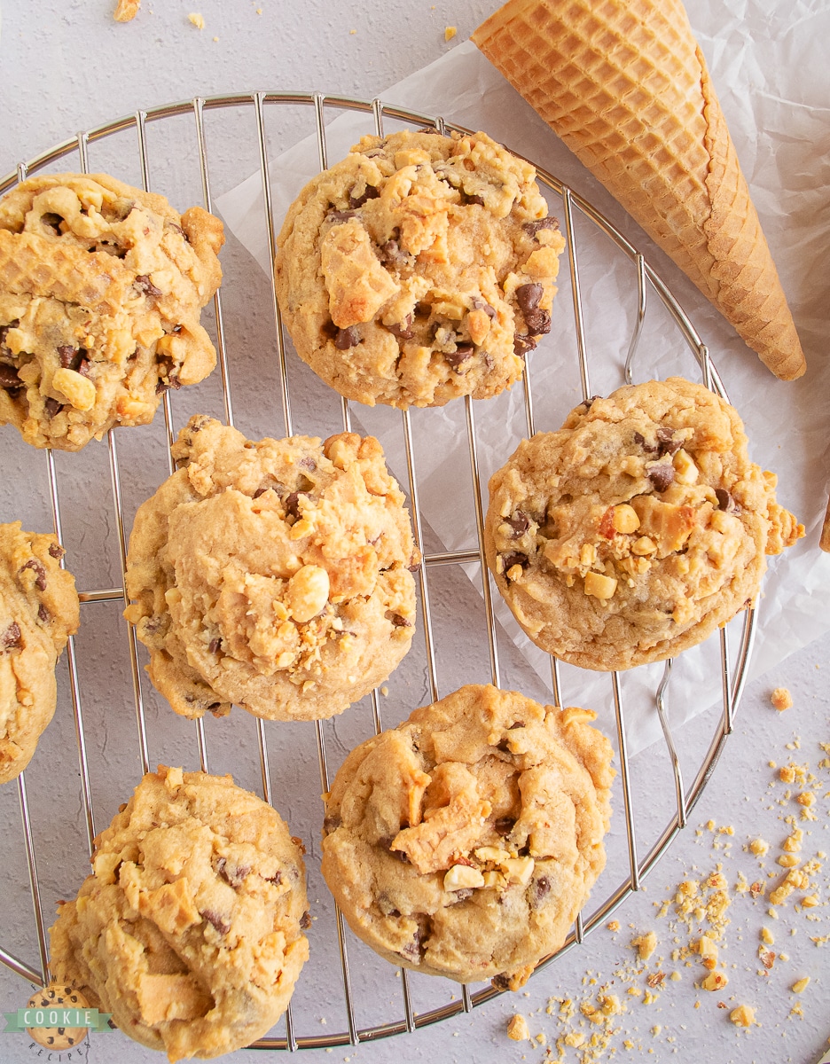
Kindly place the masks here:
<instances>
[{"instance_id":1,"label":"cookie mostly cut off by left edge, only a narrow part visible","mask_svg":"<svg viewBox=\"0 0 830 1064\"><path fill-rule=\"evenodd\" d=\"M57 701L54 668L78 631L74 578L54 535L0 525L0 783L32 760Z\"/></svg>"}]
</instances>

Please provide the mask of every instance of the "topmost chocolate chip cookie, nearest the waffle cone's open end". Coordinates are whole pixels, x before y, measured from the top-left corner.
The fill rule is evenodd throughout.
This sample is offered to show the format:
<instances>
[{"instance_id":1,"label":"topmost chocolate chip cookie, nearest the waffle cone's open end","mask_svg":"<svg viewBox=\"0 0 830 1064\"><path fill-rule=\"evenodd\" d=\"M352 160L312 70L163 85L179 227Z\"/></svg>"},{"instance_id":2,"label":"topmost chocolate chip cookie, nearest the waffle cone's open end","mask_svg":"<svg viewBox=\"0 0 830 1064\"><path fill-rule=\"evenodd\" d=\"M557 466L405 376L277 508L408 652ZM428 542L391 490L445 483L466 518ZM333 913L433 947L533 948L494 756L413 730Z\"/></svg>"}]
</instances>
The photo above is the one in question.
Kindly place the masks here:
<instances>
[{"instance_id":1,"label":"topmost chocolate chip cookie, nearest the waffle cone's open end","mask_svg":"<svg viewBox=\"0 0 830 1064\"><path fill-rule=\"evenodd\" d=\"M278 239L297 353L348 399L442 406L521 377L564 240L535 170L484 133L365 136Z\"/></svg>"}]
</instances>

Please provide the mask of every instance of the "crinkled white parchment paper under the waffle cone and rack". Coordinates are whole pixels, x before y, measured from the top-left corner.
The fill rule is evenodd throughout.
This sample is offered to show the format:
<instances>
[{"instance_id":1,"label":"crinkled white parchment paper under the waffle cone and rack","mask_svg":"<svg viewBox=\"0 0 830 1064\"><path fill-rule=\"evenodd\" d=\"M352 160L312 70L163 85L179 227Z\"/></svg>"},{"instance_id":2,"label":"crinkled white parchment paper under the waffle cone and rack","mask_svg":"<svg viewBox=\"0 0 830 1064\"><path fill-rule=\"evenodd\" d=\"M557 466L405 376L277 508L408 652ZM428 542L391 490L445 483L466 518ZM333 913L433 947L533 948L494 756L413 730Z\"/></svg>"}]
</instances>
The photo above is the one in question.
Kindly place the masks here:
<instances>
[{"instance_id":1,"label":"crinkled white parchment paper under the waffle cone and rack","mask_svg":"<svg viewBox=\"0 0 830 1064\"><path fill-rule=\"evenodd\" d=\"M690 17L707 55L732 138L761 215L808 359L799 381L776 380L694 285L659 251L625 211L582 167L533 110L470 41L426 69L380 93L385 103L448 122L483 129L508 147L555 174L600 210L645 254L668 284L708 344L730 400L741 411L750 455L779 476L778 497L807 527L807 536L784 555L770 560L760 602L760 624L750 677L773 668L830 627L830 556L818 549L827 502L830 446L828 401L830 364L826 355L830 322L830 11L810 0L690 0ZM320 90L334 92L331 86ZM384 127L389 132L394 123ZM327 124L329 162L341 159L361 135L374 132L370 115L344 114ZM271 168L275 225L302 185L319 169L315 137L283 153ZM562 202L550 197L551 213ZM226 223L270 272L263 223L262 179L254 173L216 206ZM635 271L630 261L586 219L577 217L577 245L592 394L625 383L622 366L636 314ZM560 427L582 398L567 260L550 336L531 356L534 421L537 430ZM635 380L678 372L700 380L682 337L655 294L649 294L637 348ZM526 433L521 385L474 404L484 478L512 454ZM389 466L405 483L399 436L400 413L352 404L358 431L379 436ZM421 511L447 549L469 548L475 526L460 520L451 504L469 492L464 404L414 412L431 446L418 455ZM486 499L485 499L486 502ZM471 573L478 585L478 575ZM509 611L494 599L499 621L527 660L550 684L545 654L527 639ZM684 653L673 674L669 709L675 724L711 702L717 667L717 639ZM576 671L576 670L574 670ZM580 671L578 689L563 676L563 701L592 705L608 698L608 679ZM662 666L627 674L627 727L633 750L659 734L653 692ZM707 694L703 696L702 692Z\"/></svg>"}]
</instances>

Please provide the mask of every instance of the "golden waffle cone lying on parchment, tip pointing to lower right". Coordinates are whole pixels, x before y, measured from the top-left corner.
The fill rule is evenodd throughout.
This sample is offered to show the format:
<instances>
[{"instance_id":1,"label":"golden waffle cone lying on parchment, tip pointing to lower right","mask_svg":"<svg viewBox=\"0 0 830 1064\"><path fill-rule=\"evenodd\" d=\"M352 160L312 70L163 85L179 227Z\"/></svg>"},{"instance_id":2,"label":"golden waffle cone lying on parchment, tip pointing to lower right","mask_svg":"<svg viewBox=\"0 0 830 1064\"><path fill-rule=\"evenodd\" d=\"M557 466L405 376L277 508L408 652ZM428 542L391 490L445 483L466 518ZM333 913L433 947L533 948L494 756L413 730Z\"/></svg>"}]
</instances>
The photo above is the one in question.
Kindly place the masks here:
<instances>
[{"instance_id":1,"label":"golden waffle cone lying on parchment, tip pointing to lower right","mask_svg":"<svg viewBox=\"0 0 830 1064\"><path fill-rule=\"evenodd\" d=\"M776 376L806 363L680 0L510 0L472 40Z\"/></svg>"}]
</instances>

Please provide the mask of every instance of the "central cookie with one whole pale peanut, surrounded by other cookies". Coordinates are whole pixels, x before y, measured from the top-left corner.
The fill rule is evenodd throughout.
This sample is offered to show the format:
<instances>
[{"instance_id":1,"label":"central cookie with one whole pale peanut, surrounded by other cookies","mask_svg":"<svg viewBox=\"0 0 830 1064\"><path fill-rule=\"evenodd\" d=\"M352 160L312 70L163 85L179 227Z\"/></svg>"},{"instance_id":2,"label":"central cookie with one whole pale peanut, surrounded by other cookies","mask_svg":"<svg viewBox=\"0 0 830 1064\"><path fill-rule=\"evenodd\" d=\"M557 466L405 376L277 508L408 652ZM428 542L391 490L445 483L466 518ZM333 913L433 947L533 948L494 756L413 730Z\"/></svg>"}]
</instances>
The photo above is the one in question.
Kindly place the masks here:
<instances>
[{"instance_id":1,"label":"central cookie with one whole pale peanut, surrounded by other cookies","mask_svg":"<svg viewBox=\"0 0 830 1064\"><path fill-rule=\"evenodd\" d=\"M409 650L419 563L377 439L251 443L193 417L135 517L126 611L177 713L341 713Z\"/></svg>"}]
</instances>

